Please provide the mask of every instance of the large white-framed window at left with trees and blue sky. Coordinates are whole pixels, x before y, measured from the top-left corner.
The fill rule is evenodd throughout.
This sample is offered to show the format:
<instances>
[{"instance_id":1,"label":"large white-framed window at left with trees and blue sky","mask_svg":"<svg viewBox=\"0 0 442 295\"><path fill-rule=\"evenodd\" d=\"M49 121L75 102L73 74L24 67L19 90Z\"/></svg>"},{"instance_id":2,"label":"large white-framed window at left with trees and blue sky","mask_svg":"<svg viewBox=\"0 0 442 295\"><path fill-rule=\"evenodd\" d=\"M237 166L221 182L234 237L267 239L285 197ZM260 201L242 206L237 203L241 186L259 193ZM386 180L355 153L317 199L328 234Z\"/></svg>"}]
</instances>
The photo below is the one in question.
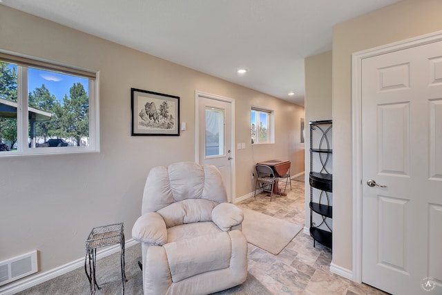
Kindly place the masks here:
<instances>
[{"instance_id":1,"label":"large white-framed window at left with trees and blue sky","mask_svg":"<svg viewBox=\"0 0 442 295\"><path fill-rule=\"evenodd\" d=\"M0 52L0 156L98 150L95 72Z\"/></svg>"}]
</instances>

